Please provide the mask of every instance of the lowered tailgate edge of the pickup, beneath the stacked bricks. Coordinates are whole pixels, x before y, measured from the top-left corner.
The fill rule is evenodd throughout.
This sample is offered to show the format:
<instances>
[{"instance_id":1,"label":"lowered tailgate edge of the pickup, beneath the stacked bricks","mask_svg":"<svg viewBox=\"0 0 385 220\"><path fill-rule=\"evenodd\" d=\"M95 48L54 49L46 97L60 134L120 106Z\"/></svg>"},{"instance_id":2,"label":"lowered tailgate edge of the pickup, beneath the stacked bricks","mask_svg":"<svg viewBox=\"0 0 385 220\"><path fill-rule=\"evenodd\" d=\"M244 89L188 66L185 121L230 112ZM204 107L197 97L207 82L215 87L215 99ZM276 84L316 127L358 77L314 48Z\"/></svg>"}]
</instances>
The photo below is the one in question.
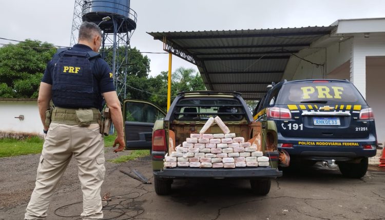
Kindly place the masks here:
<instances>
[{"instance_id":1,"label":"lowered tailgate edge of the pickup, beneath the stacked bricks","mask_svg":"<svg viewBox=\"0 0 385 220\"><path fill-rule=\"evenodd\" d=\"M153 174L160 178L185 179L185 178L276 178L282 176L282 171L271 167L238 167L225 168L189 168L176 167L154 171Z\"/></svg>"}]
</instances>

